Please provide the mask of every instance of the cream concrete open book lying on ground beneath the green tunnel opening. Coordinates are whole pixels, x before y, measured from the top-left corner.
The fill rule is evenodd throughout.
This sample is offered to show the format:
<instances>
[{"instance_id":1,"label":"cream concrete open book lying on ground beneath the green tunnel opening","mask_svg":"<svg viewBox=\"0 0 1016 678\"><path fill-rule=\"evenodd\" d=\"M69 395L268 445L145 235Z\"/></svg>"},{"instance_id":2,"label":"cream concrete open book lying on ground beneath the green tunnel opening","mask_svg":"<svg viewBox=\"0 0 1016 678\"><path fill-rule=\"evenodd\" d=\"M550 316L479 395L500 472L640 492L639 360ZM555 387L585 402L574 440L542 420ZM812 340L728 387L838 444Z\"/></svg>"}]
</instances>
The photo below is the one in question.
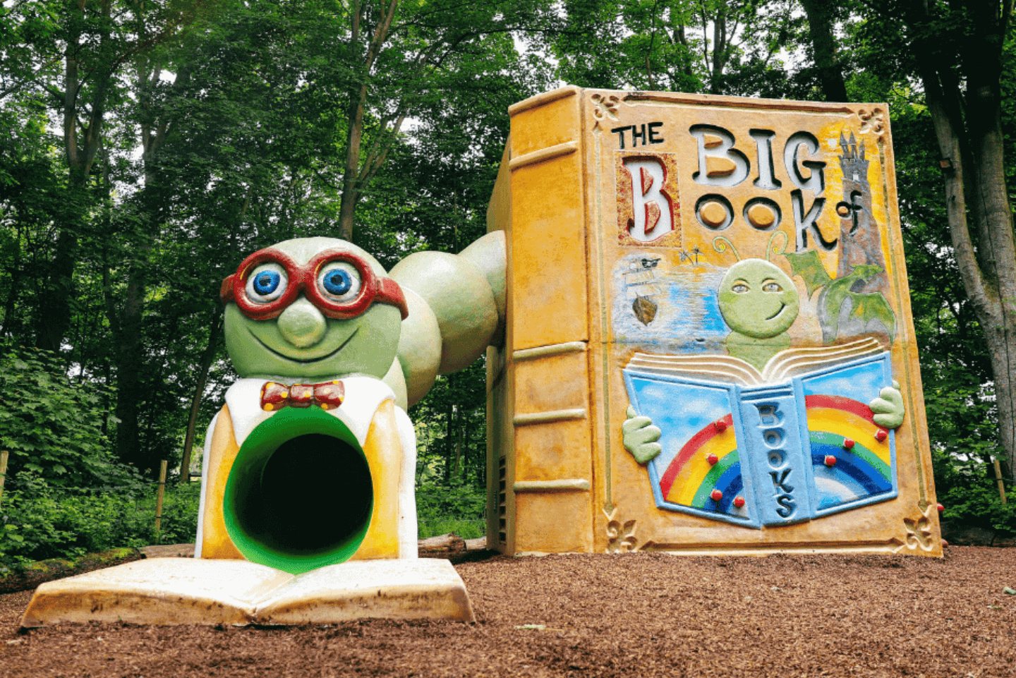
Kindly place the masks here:
<instances>
[{"instance_id":1,"label":"cream concrete open book lying on ground beneath the green tunnel opening","mask_svg":"<svg viewBox=\"0 0 1016 678\"><path fill-rule=\"evenodd\" d=\"M351 561L290 574L244 560L152 558L44 583L22 628L63 622L324 624L475 621L447 560Z\"/></svg>"}]
</instances>

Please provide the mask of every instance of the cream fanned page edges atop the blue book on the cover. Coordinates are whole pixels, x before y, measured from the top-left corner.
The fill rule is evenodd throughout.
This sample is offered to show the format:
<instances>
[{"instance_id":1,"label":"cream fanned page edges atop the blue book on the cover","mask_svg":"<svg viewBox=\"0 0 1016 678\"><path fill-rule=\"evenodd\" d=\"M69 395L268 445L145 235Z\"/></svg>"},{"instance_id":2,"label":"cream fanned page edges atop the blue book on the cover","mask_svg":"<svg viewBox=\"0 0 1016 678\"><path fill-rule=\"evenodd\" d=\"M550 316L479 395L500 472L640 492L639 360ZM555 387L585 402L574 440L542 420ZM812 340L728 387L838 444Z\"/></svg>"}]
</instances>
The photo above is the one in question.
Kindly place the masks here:
<instances>
[{"instance_id":1,"label":"cream fanned page edges atop the blue book on the cover","mask_svg":"<svg viewBox=\"0 0 1016 678\"><path fill-rule=\"evenodd\" d=\"M655 356L636 353L626 369L649 374L680 374L707 381L758 386L776 383L820 367L875 355L882 350L882 346L874 337L839 346L786 349L769 359L761 372L751 363L734 356Z\"/></svg>"}]
</instances>

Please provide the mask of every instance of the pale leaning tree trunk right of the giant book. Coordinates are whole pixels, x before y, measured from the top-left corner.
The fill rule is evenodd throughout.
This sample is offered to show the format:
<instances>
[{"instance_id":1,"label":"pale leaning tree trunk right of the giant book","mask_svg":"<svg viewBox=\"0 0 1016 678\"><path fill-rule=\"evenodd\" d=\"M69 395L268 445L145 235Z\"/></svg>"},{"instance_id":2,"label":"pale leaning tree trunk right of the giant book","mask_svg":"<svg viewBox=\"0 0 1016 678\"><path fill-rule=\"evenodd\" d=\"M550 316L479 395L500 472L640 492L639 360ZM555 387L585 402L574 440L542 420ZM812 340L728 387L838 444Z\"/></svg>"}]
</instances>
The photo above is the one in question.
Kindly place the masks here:
<instances>
[{"instance_id":1,"label":"pale leaning tree trunk right of the giant book","mask_svg":"<svg viewBox=\"0 0 1016 678\"><path fill-rule=\"evenodd\" d=\"M1001 49L1012 3L971 13L976 38L961 55L966 102L953 65L942 63L928 5L910 5L911 25L925 28L914 44L935 133L947 169L946 213L956 263L988 344L999 417L1000 456L1016 481L1016 238L1003 163ZM998 4L994 5L999 7ZM972 224L971 224L972 223ZM972 237L972 232L976 240Z\"/></svg>"}]
</instances>

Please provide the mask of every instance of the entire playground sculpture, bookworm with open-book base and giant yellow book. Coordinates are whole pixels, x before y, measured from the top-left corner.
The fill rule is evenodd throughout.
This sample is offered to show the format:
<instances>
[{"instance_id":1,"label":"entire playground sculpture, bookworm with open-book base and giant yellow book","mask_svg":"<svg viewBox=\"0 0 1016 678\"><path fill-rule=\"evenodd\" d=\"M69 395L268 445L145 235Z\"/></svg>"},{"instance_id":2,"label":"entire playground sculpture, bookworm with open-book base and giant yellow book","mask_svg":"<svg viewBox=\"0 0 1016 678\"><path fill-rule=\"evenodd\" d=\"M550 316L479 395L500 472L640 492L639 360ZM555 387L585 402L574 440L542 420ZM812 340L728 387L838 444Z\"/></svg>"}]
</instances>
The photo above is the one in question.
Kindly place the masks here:
<instances>
[{"instance_id":1,"label":"entire playground sculpture, bookworm with open-book base and giant yellow book","mask_svg":"<svg viewBox=\"0 0 1016 678\"><path fill-rule=\"evenodd\" d=\"M201 560L45 584L25 625L471 619L415 561L405 409L489 345L493 548L942 554L885 105L563 87L509 114L460 255L240 263Z\"/></svg>"}]
</instances>

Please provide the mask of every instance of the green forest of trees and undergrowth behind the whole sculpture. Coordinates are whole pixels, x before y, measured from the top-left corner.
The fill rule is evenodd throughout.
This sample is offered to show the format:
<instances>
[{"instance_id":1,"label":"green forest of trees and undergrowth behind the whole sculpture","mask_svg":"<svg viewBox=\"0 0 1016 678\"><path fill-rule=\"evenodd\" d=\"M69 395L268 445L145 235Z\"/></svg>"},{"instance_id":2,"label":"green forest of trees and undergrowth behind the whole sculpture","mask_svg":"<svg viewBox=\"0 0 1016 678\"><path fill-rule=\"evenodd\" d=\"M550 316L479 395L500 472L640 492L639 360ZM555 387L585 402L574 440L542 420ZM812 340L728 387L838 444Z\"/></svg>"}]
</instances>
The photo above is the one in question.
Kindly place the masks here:
<instances>
[{"instance_id":1,"label":"green forest of trees and undergrowth behind the whole sculpture","mask_svg":"<svg viewBox=\"0 0 1016 678\"><path fill-rule=\"evenodd\" d=\"M835 6L833 6L835 5ZM0 567L193 539L235 378L220 281L329 235L486 232L507 108L563 82L887 102L939 498L1016 532L1012 0L3 0ZM479 536L484 366L417 423L422 534ZM139 507L168 459L163 534ZM179 471L184 469L183 473Z\"/></svg>"}]
</instances>

